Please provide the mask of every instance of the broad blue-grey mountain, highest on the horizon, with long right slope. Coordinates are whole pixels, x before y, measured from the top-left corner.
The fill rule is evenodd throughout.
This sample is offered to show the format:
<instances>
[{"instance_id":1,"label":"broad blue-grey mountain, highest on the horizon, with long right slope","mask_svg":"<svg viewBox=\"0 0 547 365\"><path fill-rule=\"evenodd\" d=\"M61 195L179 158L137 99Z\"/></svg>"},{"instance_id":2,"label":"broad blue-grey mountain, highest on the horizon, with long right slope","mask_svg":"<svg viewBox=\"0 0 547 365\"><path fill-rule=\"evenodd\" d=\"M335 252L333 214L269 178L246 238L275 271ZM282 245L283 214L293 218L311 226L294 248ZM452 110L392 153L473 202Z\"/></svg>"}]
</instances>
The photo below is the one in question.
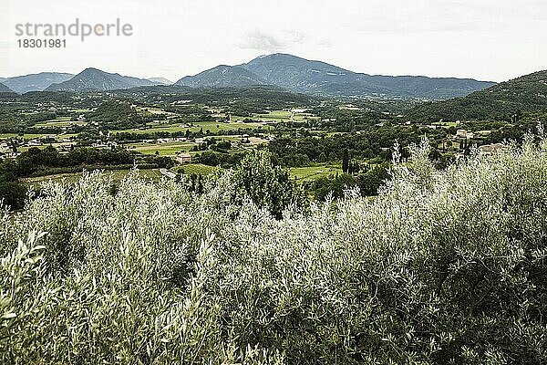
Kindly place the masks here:
<instances>
[{"instance_id":1,"label":"broad blue-grey mountain, highest on the horizon, with long right slope","mask_svg":"<svg viewBox=\"0 0 547 365\"><path fill-rule=\"evenodd\" d=\"M494 82L470 78L380 76L357 73L322 61L277 53L238 66L218 66L181 78L193 88L274 85L295 92L342 97L449 99L486 89Z\"/></svg>"}]
</instances>

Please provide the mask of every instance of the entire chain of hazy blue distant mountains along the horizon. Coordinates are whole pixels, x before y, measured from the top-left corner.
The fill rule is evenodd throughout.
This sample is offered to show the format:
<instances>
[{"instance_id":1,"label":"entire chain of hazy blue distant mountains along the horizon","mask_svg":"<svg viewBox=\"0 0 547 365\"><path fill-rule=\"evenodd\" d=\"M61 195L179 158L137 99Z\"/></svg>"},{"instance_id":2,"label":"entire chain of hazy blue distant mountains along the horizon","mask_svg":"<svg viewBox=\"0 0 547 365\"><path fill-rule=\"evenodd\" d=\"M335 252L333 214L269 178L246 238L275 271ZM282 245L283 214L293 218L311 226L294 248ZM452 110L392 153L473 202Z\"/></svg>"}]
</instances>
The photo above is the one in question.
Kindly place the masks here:
<instances>
[{"instance_id":1,"label":"entire chain of hazy blue distant mountains along the horizon","mask_svg":"<svg viewBox=\"0 0 547 365\"><path fill-rule=\"evenodd\" d=\"M44 72L6 78L5 85L18 93L28 91L108 91L142 86L171 85L165 78L132 78L86 68L76 76ZM293 92L325 97L400 97L449 99L495 85L470 78L368 75L338 68L322 61L287 54L256 57L236 66L220 65L187 76L174 85L191 88L242 88L270 85Z\"/></svg>"}]
</instances>

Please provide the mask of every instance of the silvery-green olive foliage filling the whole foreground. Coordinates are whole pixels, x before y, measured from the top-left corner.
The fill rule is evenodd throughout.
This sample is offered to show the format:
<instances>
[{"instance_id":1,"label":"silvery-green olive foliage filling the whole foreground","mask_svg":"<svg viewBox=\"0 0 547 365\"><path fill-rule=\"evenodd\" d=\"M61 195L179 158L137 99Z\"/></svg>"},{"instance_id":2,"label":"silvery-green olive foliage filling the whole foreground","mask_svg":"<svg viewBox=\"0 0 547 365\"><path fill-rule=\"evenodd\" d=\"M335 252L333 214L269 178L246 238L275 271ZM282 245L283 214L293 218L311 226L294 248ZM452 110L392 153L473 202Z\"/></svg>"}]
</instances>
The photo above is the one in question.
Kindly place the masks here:
<instances>
[{"instance_id":1,"label":"silvery-green olive foliage filling the whole foreground","mask_svg":"<svg viewBox=\"0 0 547 365\"><path fill-rule=\"evenodd\" d=\"M547 141L445 171L427 146L374 199L281 214L278 172L46 183L0 216L0 361L545 363Z\"/></svg>"}]
</instances>

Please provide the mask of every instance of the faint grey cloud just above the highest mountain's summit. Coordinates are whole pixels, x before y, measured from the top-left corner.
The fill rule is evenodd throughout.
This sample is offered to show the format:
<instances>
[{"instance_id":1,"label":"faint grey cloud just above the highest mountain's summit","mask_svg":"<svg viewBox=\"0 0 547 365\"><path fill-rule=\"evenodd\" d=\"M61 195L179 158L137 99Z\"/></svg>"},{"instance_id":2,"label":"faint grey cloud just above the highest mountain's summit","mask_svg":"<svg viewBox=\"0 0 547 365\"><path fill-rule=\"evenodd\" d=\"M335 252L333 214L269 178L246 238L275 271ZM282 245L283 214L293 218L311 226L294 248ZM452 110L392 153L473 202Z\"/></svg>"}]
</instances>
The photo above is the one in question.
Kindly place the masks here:
<instances>
[{"instance_id":1,"label":"faint grey cloud just above the highest mountain's summit","mask_svg":"<svg viewBox=\"0 0 547 365\"><path fill-rule=\"evenodd\" d=\"M238 46L243 49L279 52L297 44L304 44L306 39L304 33L294 29L283 29L274 34L255 28L244 34L243 41Z\"/></svg>"}]
</instances>

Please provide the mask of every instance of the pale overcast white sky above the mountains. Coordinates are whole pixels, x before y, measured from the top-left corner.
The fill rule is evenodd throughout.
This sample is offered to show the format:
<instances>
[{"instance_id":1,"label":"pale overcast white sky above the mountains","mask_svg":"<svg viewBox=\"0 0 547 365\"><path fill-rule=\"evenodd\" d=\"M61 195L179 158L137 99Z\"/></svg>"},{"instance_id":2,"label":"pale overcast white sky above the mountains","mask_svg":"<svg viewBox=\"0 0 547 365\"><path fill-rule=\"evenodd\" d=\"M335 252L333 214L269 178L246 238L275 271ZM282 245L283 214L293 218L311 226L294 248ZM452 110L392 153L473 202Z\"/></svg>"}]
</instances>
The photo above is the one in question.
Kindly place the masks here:
<instances>
[{"instance_id":1,"label":"pale overcast white sky above the mountains","mask_svg":"<svg viewBox=\"0 0 547 365\"><path fill-rule=\"evenodd\" d=\"M132 34L18 46L33 36L17 24L76 18L119 19ZM0 78L94 67L176 81L282 52L367 74L503 81L547 69L544 19L545 0L0 0Z\"/></svg>"}]
</instances>

